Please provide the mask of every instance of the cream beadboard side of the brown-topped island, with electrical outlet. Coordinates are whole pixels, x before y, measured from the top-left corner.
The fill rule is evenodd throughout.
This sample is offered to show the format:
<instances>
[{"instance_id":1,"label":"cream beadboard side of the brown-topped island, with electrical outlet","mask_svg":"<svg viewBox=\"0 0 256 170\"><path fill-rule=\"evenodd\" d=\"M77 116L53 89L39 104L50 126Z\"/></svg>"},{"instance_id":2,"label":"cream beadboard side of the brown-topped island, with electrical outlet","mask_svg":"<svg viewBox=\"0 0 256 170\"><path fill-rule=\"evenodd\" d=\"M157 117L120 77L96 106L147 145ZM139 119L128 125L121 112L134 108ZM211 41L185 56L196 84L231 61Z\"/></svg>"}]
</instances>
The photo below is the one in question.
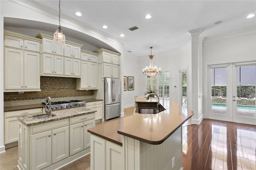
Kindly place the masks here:
<instances>
[{"instance_id":1,"label":"cream beadboard side of the brown-topped island, with electrical outlet","mask_svg":"<svg viewBox=\"0 0 256 170\"><path fill-rule=\"evenodd\" d=\"M148 144L124 136L126 169L182 169L182 130L179 127L163 143ZM172 167L174 158L174 167Z\"/></svg>"}]
</instances>

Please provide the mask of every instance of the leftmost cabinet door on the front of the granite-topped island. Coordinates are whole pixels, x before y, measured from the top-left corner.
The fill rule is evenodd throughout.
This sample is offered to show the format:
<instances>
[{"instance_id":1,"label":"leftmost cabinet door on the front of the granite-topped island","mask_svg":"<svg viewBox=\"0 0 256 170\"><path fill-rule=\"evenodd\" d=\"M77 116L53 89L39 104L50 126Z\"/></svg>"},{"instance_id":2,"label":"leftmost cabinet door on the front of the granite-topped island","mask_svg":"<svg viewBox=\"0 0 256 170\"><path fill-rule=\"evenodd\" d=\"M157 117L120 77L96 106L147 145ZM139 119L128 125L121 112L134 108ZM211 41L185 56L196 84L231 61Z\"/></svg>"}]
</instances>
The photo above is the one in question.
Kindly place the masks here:
<instances>
[{"instance_id":1,"label":"leftmost cabinet door on the front of the granite-topped island","mask_svg":"<svg viewBox=\"0 0 256 170\"><path fill-rule=\"evenodd\" d=\"M40 170L52 164L52 131L30 136L31 169Z\"/></svg>"}]
</instances>

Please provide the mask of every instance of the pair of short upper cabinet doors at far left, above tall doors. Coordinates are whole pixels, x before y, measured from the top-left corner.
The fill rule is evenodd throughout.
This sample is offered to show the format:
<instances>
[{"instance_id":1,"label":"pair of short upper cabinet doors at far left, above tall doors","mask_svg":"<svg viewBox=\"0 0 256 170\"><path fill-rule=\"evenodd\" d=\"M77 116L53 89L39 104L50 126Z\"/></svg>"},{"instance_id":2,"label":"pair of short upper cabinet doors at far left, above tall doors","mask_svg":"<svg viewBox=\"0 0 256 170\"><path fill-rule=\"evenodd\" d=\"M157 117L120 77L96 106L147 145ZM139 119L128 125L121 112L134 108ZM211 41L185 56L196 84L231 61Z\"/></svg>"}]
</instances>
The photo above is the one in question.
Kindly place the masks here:
<instances>
[{"instance_id":1,"label":"pair of short upper cabinet doors at far left, above tall doors","mask_svg":"<svg viewBox=\"0 0 256 170\"><path fill-rule=\"evenodd\" d=\"M24 40L22 38L9 36L9 35L4 35L4 46L40 52L39 42Z\"/></svg>"}]
</instances>

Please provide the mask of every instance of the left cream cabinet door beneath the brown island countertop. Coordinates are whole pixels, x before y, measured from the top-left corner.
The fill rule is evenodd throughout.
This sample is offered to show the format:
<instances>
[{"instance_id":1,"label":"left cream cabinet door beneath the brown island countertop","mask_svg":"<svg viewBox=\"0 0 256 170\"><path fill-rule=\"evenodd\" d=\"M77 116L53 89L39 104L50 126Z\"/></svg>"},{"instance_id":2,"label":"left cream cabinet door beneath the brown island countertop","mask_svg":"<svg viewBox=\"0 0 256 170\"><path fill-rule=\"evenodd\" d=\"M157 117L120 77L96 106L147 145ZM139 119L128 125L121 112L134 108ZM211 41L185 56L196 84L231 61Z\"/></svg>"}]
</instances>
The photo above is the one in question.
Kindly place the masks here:
<instances>
[{"instance_id":1,"label":"left cream cabinet door beneath the brown island countertop","mask_svg":"<svg viewBox=\"0 0 256 170\"><path fill-rule=\"evenodd\" d=\"M106 140L91 134L91 170L106 169Z\"/></svg>"}]
</instances>

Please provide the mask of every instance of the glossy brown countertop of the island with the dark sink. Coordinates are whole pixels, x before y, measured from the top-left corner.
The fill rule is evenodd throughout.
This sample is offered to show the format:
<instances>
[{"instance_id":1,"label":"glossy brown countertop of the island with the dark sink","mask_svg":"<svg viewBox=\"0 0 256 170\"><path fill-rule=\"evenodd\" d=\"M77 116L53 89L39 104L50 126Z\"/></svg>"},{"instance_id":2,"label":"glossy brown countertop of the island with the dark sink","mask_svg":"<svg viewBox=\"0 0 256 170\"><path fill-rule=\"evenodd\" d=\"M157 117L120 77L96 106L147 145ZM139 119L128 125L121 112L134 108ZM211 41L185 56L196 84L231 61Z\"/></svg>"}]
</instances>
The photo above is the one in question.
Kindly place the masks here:
<instances>
[{"instance_id":1,"label":"glossy brown countertop of the island with the dark sink","mask_svg":"<svg viewBox=\"0 0 256 170\"><path fill-rule=\"evenodd\" d=\"M136 102L157 102L155 98L148 101L145 98L137 99ZM149 115L136 113L134 109L133 115L90 128L88 132L120 146L122 135L149 144L161 144L192 117L194 112L169 99L160 100L160 104L165 111Z\"/></svg>"}]
</instances>

